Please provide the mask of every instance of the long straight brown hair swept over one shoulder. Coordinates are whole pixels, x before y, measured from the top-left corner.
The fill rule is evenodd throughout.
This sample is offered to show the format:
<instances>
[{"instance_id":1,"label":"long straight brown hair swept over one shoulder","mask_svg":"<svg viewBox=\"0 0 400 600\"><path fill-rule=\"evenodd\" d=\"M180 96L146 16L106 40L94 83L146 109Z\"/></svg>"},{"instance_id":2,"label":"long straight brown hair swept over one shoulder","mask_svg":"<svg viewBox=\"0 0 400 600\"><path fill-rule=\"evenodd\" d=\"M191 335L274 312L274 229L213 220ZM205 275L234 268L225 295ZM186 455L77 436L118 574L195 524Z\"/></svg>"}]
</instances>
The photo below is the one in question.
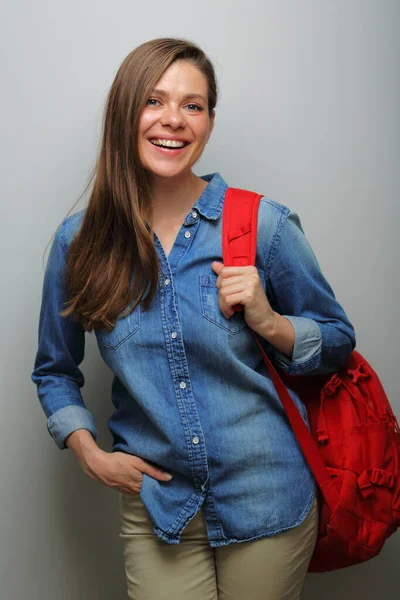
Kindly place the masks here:
<instances>
[{"instance_id":1,"label":"long straight brown hair swept over one shoulder","mask_svg":"<svg viewBox=\"0 0 400 600\"><path fill-rule=\"evenodd\" d=\"M126 309L126 316L139 302L146 310L156 292L159 263L147 224L150 188L139 162L137 131L157 81L179 59L190 60L206 77L211 116L218 94L214 68L201 48L184 39L158 38L138 46L122 62L109 91L88 183L94 179L93 189L69 246L69 306L60 313L87 331L112 329L121 311Z\"/></svg>"}]
</instances>

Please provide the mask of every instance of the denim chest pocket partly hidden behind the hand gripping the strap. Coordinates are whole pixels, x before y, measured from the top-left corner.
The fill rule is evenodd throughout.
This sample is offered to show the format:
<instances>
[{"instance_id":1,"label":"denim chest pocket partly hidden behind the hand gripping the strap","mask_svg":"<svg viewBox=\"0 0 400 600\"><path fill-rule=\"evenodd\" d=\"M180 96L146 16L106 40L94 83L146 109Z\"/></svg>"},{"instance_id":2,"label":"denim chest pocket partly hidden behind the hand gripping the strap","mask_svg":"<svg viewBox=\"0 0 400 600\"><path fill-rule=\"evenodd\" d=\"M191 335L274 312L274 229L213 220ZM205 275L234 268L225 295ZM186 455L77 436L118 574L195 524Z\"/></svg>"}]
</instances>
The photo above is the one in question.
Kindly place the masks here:
<instances>
[{"instance_id":1,"label":"denim chest pocket partly hidden behind the hand gripping the strap","mask_svg":"<svg viewBox=\"0 0 400 600\"><path fill-rule=\"evenodd\" d=\"M200 300L203 317L210 323L229 331L229 333L240 333L247 329L243 312L234 313L230 319L226 319L219 308L218 288L216 286L217 276L200 275Z\"/></svg>"}]
</instances>

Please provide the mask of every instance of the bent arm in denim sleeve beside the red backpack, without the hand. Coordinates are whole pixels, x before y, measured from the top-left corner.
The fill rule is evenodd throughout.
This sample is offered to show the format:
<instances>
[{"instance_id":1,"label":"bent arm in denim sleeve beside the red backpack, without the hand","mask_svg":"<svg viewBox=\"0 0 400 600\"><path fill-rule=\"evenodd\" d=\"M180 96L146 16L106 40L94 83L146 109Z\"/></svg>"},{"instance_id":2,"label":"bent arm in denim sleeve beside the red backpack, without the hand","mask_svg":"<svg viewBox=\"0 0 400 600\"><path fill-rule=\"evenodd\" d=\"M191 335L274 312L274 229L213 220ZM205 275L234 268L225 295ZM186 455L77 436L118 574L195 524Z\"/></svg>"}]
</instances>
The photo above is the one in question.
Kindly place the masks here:
<instances>
[{"instance_id":1,"label":"bent arm in denim sleeve beside the red backpack, without the hand","mask_svg":"<svg viewBox=\"0 0 400 600\"><path fill-rule=\"evenodd\" d=\"M280 315L274 332L278 343L270 338L278 366L292 375L337 371L355 347L354 329L322 274L296 213L287 216L265 274L268 298ZM284 321L289 321L293 334Z\"/></svg>"}]
</instances>

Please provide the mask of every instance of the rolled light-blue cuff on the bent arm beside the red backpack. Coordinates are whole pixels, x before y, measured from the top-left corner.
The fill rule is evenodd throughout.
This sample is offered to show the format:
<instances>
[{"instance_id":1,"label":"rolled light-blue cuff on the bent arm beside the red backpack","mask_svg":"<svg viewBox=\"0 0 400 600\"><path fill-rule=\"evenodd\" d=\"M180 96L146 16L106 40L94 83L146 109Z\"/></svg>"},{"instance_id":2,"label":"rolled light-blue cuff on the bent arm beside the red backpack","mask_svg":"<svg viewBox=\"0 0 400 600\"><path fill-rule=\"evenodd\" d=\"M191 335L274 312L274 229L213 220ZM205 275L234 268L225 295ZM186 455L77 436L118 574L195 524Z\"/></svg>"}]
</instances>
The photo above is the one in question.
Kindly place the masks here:
<instances>
[{"instance_id":1,"label":"rolled light-blue cuff on the bent arm beside the red backpack","mask_svg":"<svg viewBox=\"0 0 400 600\"><path fill-rule=\"evenodd\" d=\"M319 366L322 348L321 329L313 319L282 315L294 329L292 358L274 349L276 363L291 375L301 375Z\"/></svg>"}]
</instances>

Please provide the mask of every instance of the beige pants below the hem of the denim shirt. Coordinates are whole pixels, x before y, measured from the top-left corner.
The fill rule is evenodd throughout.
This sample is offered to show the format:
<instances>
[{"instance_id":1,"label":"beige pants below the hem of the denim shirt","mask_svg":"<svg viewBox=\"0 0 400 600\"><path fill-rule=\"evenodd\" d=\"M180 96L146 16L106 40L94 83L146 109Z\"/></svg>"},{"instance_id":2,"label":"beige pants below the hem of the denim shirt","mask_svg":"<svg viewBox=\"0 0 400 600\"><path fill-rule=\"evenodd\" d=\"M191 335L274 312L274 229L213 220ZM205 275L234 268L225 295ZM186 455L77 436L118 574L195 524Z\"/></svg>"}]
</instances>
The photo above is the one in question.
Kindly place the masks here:
<instances>
[{"instance_id":1,"label":"beige pants below the hem of the denim shirt","mask_svg":"<svg viewBox=\"0 0 400 600\"><path fill-rule=\"evenodd\" d=\"M132 600L297 600L317 537L317 502L301 525L212 548L202 510L179 544L152 529L140 495L119 493L128 597Z\"/></svg>"}]
</instances>

